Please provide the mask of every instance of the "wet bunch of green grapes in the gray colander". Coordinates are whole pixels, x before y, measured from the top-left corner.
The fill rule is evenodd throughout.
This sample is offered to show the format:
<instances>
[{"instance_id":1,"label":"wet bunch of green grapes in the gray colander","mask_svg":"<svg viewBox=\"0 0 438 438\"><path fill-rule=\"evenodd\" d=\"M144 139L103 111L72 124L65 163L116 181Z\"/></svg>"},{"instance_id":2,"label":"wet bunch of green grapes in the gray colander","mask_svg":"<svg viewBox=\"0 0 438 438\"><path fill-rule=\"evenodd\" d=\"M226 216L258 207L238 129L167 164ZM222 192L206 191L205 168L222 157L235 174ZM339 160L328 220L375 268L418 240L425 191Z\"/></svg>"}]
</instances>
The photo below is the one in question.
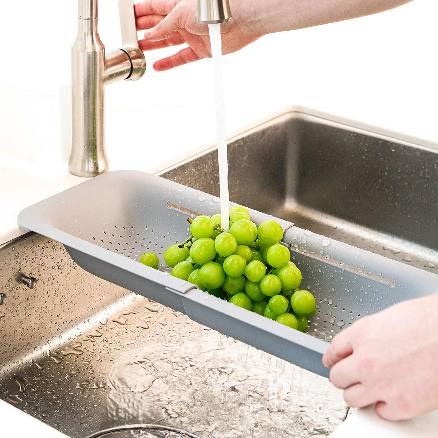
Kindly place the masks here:
<instances>
[{"instance_id":1,"label":"wet bunch of green grapes in the gray colander","mask_svg":"<svg viewBox=\"0 0 438 438\"><path fill-rule=\"evenodd\" d=\"M316 313L314 296L301 290L301 272L280 244L283 229L275 220L257 228L247 208L230 209L230 232L221 228L220 215L188 219L191 237L164 252L172 275L301 332ZM153 253L140 261L157 268Z\"/></svg>"}]
</instances>

